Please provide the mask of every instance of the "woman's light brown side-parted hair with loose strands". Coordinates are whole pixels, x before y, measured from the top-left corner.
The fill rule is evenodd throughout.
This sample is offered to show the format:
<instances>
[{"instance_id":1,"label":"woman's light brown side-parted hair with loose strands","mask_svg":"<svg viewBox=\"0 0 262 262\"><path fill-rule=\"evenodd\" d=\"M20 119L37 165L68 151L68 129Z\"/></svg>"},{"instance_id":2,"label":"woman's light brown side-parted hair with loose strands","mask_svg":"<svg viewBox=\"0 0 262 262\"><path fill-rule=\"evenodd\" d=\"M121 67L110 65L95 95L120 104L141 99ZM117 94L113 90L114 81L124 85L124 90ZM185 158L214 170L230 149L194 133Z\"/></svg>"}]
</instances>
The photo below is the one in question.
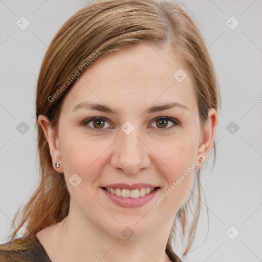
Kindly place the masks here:
<instances>
[{"instance_id":1,"label":"woman's light brown side-parted hair with loose strands","mask_svg":"<svg viewBox=\"0 0 262 262\"><path fill-rule=\"evenodd\" d=\"M14 239L26 223L30 233L37 233L61 222L69 213L70 194L63 173L53 168L49 145L37 121L38 116L47 116L51 126L57 130L63 98L75 80L88 69L88 61L93 64L106 54L132 48L142 42L160 48L169 47L191 73L201 124L207 121L209 108L217 110L221 106L219 85L203 36L177 4L167 1L157 3L155 0L95 0L84 6L57 32L41 64L35 123L40 181L21 211L18 226L9 237ZM77 77L72 77L74 75ZM215 162L215 142L212 148ZM187 241L183 256L189 252L195 236L201 210L200 169L195 173L194 186L199 194L195 212L189 208L191 192L174 218L166 245L166 252L171 257L176 256L171 240L174 241L178 226L183 232L183 242ZM13 226L19 212L20 209L14 215ZM190 225L189 212L194 217Z\"/></svg>"}]
</instances>

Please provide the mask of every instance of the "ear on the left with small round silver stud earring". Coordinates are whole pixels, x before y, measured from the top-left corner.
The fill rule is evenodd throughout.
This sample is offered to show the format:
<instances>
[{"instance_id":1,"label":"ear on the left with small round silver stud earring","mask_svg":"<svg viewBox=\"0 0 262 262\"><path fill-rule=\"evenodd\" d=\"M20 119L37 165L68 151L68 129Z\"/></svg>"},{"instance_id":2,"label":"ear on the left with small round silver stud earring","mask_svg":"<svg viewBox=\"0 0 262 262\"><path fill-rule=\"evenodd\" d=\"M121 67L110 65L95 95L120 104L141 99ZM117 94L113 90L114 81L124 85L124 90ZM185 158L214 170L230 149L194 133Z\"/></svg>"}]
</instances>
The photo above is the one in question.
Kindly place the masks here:
<instances>
[{"instance_id":1,"label":"ear on the left with small round silver stud earring","mask_svg":"<svg viewBox=\"0 0 262 262\"><path fill-rule=\"evenodd\" d=\"M63 172L59 141L55 130L51 127L49 119L45 115L38 116L38 123L42 127L43 133L45 133L46 139L48 141L54 169L58 172ZM60 163L59 167L56 167L57 162Z\"/></svg>"}]
</instances>

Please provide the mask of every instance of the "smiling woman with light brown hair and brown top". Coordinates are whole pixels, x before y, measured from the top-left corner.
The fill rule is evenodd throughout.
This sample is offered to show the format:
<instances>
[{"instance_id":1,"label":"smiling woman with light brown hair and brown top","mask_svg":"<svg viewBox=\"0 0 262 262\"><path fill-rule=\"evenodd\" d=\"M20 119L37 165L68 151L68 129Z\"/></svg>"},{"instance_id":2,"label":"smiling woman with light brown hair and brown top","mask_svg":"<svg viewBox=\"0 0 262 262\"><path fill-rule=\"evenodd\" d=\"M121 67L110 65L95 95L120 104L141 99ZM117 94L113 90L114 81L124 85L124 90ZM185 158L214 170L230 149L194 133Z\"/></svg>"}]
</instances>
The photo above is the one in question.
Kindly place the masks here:
<instances>
[{"instance_id":1,"label":"smiling woman with light brown hair and brown top","mask_svg":"<svg viewBox=\"0 0 262 262\"><path fill-rule=\"evenodd\" d=\"M41 65L41 181L0 260L182 261L173 233L182 229L186 255L201 201L188 225L191 188L200 194L215 150L219 101L201 33L177 5L82 8Z\"/></svg>"}]
</instances>

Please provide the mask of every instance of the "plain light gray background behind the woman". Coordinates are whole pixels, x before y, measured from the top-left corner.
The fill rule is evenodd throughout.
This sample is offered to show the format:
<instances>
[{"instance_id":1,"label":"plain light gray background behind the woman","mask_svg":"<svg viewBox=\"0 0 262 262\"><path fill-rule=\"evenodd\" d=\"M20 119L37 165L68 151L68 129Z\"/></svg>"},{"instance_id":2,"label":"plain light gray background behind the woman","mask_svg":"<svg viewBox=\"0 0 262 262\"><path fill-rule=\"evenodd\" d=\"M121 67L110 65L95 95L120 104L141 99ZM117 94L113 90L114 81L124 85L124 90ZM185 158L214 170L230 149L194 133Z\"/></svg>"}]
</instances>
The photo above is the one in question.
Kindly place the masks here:
<instances>
[{"instance_id":1,"label":"plain light gray background behind the woman","mask_svg":"<svg viewBox=\"0 0 262 262\"><path fill-rule=\"evenodd\" d=\"M38 183L34 100L40 63L55 33L85 3L0 0L1 243L6 242L15 211ZM202 177L209 232L204 214L194 250L184 260L261 261L262 2L178 3L204 34L222 94L217 159L214 169L210 161ZM30 21L25 30L16 25L21 16ZM237 23L231 16L240 23L234 30L228 27ZM19 129L25 126L22 121L29 128L24 134ZM181 254L179 247L177 253Z\"/></svg>"}]
</instances>

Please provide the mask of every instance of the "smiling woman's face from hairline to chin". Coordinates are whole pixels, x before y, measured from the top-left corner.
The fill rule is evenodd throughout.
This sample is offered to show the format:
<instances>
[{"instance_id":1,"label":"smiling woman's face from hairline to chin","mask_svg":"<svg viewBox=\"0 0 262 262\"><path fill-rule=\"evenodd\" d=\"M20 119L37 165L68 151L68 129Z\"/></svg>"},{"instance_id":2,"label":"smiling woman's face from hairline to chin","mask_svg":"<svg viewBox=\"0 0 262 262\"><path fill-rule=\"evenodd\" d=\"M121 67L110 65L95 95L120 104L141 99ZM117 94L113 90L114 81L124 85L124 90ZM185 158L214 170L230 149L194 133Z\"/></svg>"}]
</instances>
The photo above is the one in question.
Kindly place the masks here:
<instances>
[{"instance_id":1,"label":"smiling woman's face from hairline to chin","mask_svg":"<svg viewBox=\"0 0 262 262\"><path fill-rule=\"evenodd\" d=\"M169 49L145 44L83 73L64 97L53 147L49 139L78 217L122 238L170 225L213 141L192 85Z\"/></svg>"}]
</instances>

